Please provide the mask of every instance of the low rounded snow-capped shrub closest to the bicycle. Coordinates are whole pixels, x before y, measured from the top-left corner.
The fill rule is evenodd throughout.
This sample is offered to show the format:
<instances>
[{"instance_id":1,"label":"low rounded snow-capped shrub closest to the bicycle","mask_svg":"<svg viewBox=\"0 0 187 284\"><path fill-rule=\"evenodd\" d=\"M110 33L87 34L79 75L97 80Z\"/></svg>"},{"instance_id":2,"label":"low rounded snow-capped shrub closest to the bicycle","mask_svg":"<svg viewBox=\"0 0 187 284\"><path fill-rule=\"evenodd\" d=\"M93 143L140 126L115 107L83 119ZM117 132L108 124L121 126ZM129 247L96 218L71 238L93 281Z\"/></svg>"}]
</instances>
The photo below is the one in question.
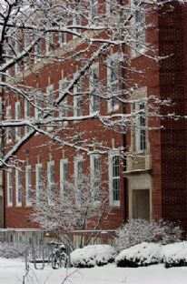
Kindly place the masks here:
<instances>
[{"instance_id":1,"label":"low rounded snow-capped shrub closest to the bicycle","mask_svg":"<svg viewBox=\"0 0 187 284\"><path fill-rule=\"evenodd\" d=\"M83 249L75 249L71 253L71 263L75 268L93 268L113 262L116 251L109 245L90 245Z\"/></svg>"}]
</instances>

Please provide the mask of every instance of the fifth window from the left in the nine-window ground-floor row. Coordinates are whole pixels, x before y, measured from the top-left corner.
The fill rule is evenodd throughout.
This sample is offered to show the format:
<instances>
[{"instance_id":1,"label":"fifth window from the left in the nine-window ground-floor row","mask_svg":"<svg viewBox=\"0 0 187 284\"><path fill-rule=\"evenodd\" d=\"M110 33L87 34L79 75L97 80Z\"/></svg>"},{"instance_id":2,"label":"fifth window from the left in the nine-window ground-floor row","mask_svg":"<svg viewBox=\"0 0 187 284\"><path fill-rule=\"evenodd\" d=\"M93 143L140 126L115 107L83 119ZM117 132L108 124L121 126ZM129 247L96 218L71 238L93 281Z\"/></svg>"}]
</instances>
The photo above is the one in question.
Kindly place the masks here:
<instances>
[{"instance_id":1,"label":"fifth window from the left in the nine-window ground-floor row","mask_svg":"<svg viewBox=\"0 0 187 284\"><path fill-rule=\"evenodd\" d=\"M47 163L48 203L54 205L54 161Z\"/></svg>"}]
</instances>

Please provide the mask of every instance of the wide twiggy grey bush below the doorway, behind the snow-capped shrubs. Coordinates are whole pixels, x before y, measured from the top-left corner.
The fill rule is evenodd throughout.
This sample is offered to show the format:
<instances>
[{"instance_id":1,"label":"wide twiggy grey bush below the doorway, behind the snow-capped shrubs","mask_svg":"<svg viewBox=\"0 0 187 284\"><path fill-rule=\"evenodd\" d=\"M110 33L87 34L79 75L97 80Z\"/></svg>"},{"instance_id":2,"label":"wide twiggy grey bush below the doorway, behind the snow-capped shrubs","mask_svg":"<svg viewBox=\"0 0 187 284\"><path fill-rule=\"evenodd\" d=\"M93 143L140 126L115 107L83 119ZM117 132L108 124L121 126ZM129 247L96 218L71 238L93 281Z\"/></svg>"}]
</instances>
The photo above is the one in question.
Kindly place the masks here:
<instances>
[{"instance_id":1,"label":"wide twiggy grey bush below the doorway, behind the snow-capped shrubs","mask_svg":"<svg viewBox=\"0 0 187 284\"><path fill-rule=\"evenodd\" d=\"M130 219L116 232L115 247L119 251L142 242L170 244L182 238L182 229L164 220Z\"/></svg>"}]
</instances>

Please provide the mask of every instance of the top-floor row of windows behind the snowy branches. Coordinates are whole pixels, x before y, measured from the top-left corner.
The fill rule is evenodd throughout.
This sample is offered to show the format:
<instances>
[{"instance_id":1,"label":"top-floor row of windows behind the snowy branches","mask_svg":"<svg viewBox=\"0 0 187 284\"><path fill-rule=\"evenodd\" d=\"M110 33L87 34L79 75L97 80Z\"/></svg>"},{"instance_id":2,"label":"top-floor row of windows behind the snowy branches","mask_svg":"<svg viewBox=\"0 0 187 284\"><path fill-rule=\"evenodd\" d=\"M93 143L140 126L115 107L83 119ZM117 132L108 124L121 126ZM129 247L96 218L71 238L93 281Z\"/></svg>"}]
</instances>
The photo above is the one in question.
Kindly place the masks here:
<instances>
[{"instance_id":1,"label":"top-floor row of windows behind the snowy branches","mask_svg":"<svg viewBox=\"0 0 187 284\"><path fill-rule=\"evenodd\" d=\"M94 23L95 19L99 19L99 4L97 0L89 0L90 5L90 24ZM110 17L110 15L113 14L114 11L116 11L117 2L113 0L108 0L106 2L106 13ZM64 9L65 10L65 9ZM131 1L131 13L133 15L133 18L131 20L131 36L133 36L133 40L130 46L132 46L132 56L137 56L139 51L143 51L144 45L145 45L145 11L143 5L140 5L139 0L132 0ZM66 13L68 14L68 13ZM73 25L81 25L82 24L82 7L81 7L81 1L76 1L74 6L74 13L73 13ZM64 15L65 17L65 15ZM68 24L68 23L66 23ZM81 30L79 28L75 28L74 31L80 32ZM25 39L24 39L24 49L28 48L28 46L31 44L31 35L28 33L25 33ZM74 35L76 37L76 35ZM62 46L67 42L66 33L62 32L59 34L59 40L58 43ZM14 45L13 45L14 46ZM7 58L15 57L15 50L19 52L21 50L22 46L21 43L18 41L15 41L15 48L12 47L12 45L7 46ZM54 48L54 35L53 33L47 33L45 38L45 55L48 56L52 52ZM43 57L43 46L42 41L38 42L34 46L34 62L38 62L41 57ZM31 57L32 57L31 56ZM29 68L31 64L31 58L30 56L25 57L25 69ZM22 65L15 64L15 73L20 72L22 70ZM11 73L11 70L7 71L7 73Z\"/></svg>"}]
</instances>

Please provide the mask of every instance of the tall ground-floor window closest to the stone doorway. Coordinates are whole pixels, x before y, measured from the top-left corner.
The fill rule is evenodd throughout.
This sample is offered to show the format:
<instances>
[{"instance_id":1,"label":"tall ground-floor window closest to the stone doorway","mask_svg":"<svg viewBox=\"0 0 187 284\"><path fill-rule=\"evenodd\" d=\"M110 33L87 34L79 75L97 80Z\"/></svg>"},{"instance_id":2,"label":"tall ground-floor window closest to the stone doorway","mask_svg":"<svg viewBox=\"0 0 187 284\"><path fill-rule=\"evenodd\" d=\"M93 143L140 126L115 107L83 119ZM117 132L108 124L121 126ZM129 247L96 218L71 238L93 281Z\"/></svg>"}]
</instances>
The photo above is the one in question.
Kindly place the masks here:
<instances>
[{"instance_id":1,"label":"tall ground-floor window closest to the stone doorway","mask_svg":"<svg viewBox=\"0 0 187 284\"><path fill-rule=\"evenodd\" d=\"M120 206L120 157L118 155L109 157L109 189L111 205Z\"/></svg>"}]
</instances>

